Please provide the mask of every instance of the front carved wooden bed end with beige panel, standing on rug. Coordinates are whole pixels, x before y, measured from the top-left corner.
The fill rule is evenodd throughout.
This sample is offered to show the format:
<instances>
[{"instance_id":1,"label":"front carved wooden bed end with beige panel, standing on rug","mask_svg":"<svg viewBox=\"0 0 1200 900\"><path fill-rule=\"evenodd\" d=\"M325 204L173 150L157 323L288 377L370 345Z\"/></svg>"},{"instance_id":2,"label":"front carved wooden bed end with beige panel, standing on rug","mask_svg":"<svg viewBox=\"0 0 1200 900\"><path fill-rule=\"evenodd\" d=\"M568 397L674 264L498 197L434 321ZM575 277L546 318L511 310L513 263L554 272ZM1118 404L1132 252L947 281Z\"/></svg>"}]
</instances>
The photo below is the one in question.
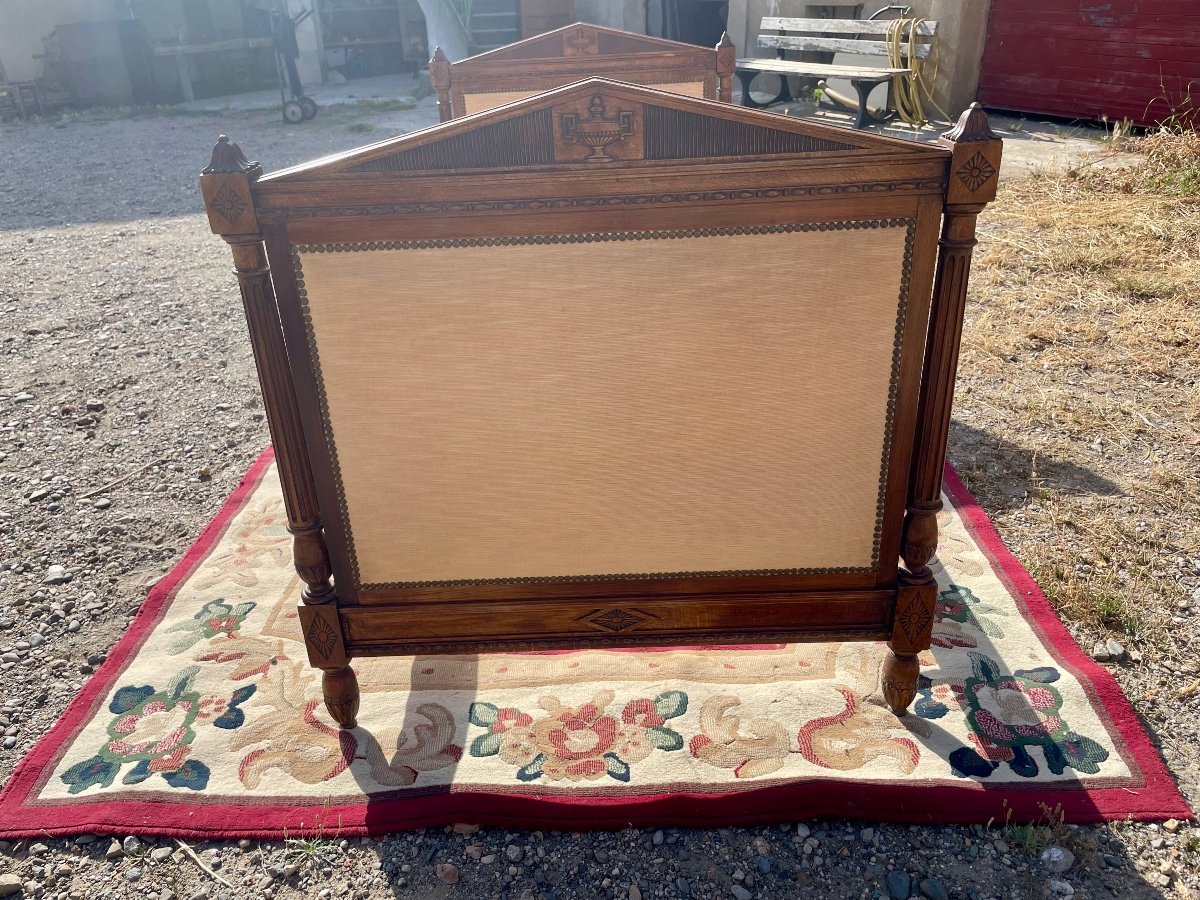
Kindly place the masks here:
<instances>
[{"instance_id":1,"label":"front carved wooden bed end with beige panel, standing on rug","mask_svg":"<svg viewBox=\"0 0 1200 900\"><path fill-rule=\"evenodd\" d=\"M902 714L1000 156L978 106L929 145L602 79L270 175L222 137L330 715L356 655L804 640L886 640Z\"/></svg>"}]
</instances>

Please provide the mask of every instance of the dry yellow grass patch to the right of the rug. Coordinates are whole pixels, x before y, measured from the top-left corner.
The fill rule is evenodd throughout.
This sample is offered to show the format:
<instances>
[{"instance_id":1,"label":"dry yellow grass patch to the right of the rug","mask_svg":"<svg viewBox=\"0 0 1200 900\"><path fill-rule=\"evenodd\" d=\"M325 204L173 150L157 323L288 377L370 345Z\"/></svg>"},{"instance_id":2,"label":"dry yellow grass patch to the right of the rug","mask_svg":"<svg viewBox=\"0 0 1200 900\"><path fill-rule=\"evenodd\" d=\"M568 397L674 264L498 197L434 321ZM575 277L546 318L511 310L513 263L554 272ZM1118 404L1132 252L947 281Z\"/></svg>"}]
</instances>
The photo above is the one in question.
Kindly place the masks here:
<instances>
[{"instance_id":1,"label":"dry yellow grass patch to the right of the rug","mask_svg":"<svg viewBox=\"0 0 1200 900\"><path fill-rule=\"evenodd\" d=\"M1008 182L985 214L952 458L1081 638L1194 661L1200 138L1126 149L1145 167Z\"/></svg>"}]
</instances>

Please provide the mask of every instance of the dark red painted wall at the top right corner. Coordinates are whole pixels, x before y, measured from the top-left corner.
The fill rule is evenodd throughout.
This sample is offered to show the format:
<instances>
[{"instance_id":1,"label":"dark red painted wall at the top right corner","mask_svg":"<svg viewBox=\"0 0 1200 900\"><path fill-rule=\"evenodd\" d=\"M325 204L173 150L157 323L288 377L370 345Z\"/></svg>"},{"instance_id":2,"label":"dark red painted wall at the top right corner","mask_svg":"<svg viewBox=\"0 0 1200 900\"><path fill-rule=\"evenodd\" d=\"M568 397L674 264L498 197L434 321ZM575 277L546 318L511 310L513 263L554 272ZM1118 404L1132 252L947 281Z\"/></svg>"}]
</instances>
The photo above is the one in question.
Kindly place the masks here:
<instances>
[{"instance_id":1,"label":"dark red painted wall at the top right corner","mask_svg":"<svg viewBox=\"0 0 1200 900\"><path fill-rule=\"evenodd\" d=\"M1200 0L992 0L979 100L1139 125L1174 109L1194 127Z\"/></svg>"}]
</instances>

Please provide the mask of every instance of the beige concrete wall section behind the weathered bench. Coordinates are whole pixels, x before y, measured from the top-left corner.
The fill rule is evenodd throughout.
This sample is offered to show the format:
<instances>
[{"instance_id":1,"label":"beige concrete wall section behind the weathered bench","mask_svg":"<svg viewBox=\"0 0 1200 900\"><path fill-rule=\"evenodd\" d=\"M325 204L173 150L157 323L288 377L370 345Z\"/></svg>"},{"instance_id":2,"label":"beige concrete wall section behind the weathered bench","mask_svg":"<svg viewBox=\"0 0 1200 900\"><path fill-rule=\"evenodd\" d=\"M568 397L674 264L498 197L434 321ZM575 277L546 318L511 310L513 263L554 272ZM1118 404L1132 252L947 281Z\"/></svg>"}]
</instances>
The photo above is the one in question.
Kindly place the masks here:
<instances>
[{"instance_id":1,"label":"beige concrete wall section behind the weathered bench","mask_svg":"<svg viewBox=\"0 0 1200 900\"><path fill-rule=\"evenodd\" d=\"M940 60L934 79L934 100L950 116L961 113L979 90L979 64L983 60L984 41L988 36L988 16L992 0L907 0L912 16L936 19L938 24L937 46ZM870 16L889 4L887 0L868 0L863 17ZM828 6L810 0L730 0L730 37L742 56L773 56L773 50L760 49L758 23L763 16L809 14L809 7ZM838 16L848 12L839 11ZM838 62L850 62L852 58L839 56ZM870 65L878 65L878 58L858 58ZM872 100L875 100L872 97ZM926 110L929 115L940 115Z\"/></svg>"}]
</instances>

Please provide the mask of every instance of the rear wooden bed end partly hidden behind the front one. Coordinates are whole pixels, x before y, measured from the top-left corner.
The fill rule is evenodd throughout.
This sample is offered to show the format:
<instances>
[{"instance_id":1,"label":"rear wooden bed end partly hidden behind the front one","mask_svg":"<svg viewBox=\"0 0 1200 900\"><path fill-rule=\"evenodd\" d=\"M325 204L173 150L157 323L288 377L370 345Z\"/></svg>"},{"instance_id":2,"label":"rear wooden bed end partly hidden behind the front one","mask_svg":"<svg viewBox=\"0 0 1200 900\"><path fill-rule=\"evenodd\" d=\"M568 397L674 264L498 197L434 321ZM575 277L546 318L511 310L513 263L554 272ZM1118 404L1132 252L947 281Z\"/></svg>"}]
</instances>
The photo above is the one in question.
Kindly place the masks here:
<instances>
[{"instance_id":1,"label":"rear wooden bed end partly hidden behind the front one","mask_svg":"<svg viewBox=\"0 0 1200 900\"><path fill-rule=\"evenodd\" d=\"M536 37L450 62L430 60L438 116L450 121L584 78L612 78L730 102L737 48L715 49L577 22Z\"/></svg>"}]
</instances>

